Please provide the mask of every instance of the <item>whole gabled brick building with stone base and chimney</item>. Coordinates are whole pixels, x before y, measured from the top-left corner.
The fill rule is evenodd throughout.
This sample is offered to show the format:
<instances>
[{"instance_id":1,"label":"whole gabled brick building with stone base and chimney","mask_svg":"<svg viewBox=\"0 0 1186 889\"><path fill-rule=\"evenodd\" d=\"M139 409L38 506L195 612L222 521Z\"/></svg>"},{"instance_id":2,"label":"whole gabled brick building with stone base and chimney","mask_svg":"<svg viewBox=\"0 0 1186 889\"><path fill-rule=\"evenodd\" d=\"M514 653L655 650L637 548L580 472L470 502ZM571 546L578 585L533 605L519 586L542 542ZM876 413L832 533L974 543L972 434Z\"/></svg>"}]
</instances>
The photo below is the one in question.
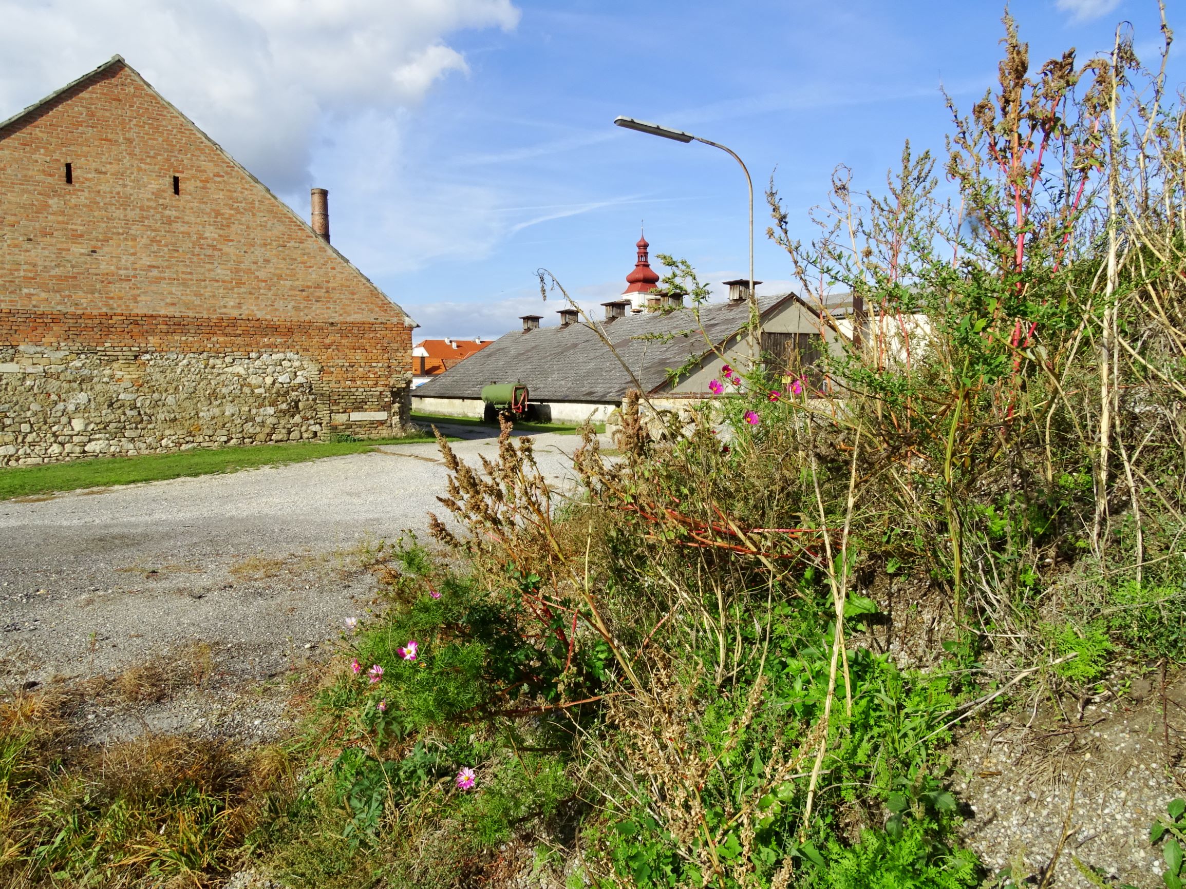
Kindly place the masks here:
<instances>
[{"instance_id":1,"label":"whole gabled brick building with stone base and chimney","mask_svg":"<svg viewBox=\"0 0 1186 889\"><path fill-rule=\"evenodd\" d=\"M391 434L415 322L116 56L0 123L0 465Z\"/></svg>"}]
</instances>

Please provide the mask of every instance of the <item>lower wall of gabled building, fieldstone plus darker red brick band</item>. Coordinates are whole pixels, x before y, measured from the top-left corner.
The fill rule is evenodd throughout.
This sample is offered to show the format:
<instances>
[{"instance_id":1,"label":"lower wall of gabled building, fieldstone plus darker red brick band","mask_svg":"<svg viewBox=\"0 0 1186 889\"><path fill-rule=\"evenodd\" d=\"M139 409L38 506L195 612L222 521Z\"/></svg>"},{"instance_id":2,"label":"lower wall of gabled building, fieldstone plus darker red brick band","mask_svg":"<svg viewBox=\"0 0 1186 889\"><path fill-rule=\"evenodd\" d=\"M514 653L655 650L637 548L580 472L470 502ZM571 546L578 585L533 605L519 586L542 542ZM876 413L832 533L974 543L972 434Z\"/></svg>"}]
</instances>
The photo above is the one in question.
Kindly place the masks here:
<instances>
[{"instance_id":1,"label":"lower wall of gabled building, fieldstone plus darker red brick band","mask_svg":"<svg viewBox=\"0 0 1186 889\"><path fill-rule=\"evenodd\" d=\"M391 367L410 334L0 309L0 466L393 435L408 423L410 371Z\"/></svg>"}]
</instances>

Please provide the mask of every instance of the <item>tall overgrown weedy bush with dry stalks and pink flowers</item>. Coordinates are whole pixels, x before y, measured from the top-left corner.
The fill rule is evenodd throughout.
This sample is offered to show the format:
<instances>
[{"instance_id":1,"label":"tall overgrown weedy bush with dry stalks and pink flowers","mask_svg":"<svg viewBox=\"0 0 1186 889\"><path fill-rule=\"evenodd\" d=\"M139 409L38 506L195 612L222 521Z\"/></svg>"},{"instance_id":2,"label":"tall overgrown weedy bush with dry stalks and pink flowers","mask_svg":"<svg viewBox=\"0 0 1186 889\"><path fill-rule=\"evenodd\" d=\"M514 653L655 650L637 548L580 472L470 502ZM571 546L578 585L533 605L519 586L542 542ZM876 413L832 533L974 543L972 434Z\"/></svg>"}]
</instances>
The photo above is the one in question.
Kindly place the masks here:
<instances>
[{"instance_id":1,"label":"tall overgrown weedy bush with dry stalks and pink flowers","mask_svg":"<svg viewBox=\"0 0 1186 889\"><path fill-rule=\"evenodd\" d=\"M816 364L722 359L680 417L632 394L575 499L508 429L480 467L441 440L465 568L395 583L310 791L376 880L525 844L570 885L977 885L952 728L1182 657L1180 111L1123 32L1032 75L1005 24L999 88L949 103L950 199L907 146L885 197L837 171L804 244L771 184L804 298L854 298Z\"/></svg>"}]
</instances>

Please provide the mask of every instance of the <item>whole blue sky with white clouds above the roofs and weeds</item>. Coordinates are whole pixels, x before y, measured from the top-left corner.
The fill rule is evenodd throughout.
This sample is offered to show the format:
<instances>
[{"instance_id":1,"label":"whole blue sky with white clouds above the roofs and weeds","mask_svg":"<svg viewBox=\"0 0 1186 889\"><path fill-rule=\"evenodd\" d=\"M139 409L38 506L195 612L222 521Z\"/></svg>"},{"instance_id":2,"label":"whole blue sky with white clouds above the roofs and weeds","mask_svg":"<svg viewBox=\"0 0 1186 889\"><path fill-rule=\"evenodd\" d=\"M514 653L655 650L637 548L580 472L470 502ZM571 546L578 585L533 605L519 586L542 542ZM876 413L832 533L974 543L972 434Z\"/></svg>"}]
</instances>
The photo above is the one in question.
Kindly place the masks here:
<instances>
[{"instance_id":1,"label":"whole blue sky with white clouds above the roofs and weeds","mask_svg":"<svg viewBox=\"0 0 1186 889\"><path fill-rule=\"evenodd\" d=\"M996 2L734 0L0 0L0 117L120 52L304 216L330 190L333 243L403 306L416 337L495 337L537 312L535 269L581 300L620 293L640 220L709 281L746 271L740 170L707 146L618 129L658 121L737 151L755 191L755 274L774 174L804 237L837 164L876 187L910 139L942 154L943 84L970 107L995 78ZM1013 7L1032 68L1079 59L1152 0ZM1174 9L1171 8L1173 17ZM87 17L93 17L88 20ZM1171 19L1171 25L1182 23ZM173 36L160 45L162 32ZM1186 39L1186 32L1182 33ZM1171 82L1181 81L1175 52Z\"/></svg>"}]
</instances>

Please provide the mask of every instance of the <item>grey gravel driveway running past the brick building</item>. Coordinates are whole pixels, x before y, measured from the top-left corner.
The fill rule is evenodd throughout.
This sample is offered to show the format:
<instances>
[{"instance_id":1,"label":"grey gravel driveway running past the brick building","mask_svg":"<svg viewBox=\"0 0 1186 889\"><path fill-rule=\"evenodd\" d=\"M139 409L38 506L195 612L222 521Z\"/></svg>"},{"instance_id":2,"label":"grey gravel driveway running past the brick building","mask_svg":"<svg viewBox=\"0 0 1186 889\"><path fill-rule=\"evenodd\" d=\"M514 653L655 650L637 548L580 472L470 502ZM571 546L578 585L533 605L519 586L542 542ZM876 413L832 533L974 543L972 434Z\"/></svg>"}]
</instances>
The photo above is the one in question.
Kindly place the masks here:
<instances>
[{"instance_id":1,"label":"grey gravel driveway running past the brick building","mask_svg":"<svg viewBox=\"0 0 1186 889\"><path fill-rule=\"evenodd\" d=\"M442 431L473 465L497 452L489 430ZM534 437L541 469L570 482L580 440ZM0 501L0 682L113 676L195 645L238 679L323 657L371 602L359 555L445 518L445 481L423 443Z\"/></svg>"}]
</instances>

